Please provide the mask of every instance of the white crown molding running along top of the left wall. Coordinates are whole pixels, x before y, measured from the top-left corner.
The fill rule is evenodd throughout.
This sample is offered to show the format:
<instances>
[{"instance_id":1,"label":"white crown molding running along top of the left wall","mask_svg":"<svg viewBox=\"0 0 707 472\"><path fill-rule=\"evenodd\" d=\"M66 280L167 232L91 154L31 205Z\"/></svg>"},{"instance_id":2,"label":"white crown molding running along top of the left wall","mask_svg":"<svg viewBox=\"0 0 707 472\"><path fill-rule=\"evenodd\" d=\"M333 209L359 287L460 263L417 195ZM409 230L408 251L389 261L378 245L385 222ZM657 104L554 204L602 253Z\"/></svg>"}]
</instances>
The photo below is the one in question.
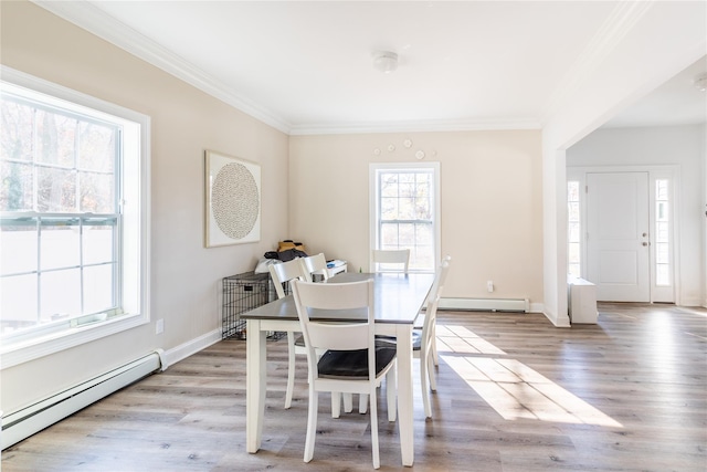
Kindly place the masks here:
<instances>
[{"instance_id":1,"label":"white crown molding running along top of the left wall","mask_svg":"<svg viewBox=\"0 0 707 472\"><path fill-rule=\"evenodd\" d=\"M202 92L278 129L289 133L292 125L272 111L239 95L231 87L204 73L177 54L135 31L86 1L31 0L57 17L102 38L156 67L193 85Z\"/></svg>"}]
</instances>

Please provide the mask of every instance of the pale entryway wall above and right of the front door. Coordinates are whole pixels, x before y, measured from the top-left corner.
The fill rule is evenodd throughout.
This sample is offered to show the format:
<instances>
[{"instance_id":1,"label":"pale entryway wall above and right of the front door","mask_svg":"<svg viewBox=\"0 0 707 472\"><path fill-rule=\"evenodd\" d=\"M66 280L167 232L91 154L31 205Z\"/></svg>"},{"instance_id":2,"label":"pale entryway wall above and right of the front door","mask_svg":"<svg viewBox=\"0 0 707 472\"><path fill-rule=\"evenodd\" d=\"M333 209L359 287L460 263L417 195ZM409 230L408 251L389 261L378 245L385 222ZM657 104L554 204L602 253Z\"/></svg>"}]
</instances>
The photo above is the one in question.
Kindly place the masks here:
<instances>
[{"instance_id":1,"label":"pale entryway wall above and right of the front door","mask_svg":"<svg viewBox=\"0 0 707 472\"><path fill-rule=\"evenodd\" d=\"M679 224L679 260L676 274L680 304L700 305L705 297L705 127L669 126L599 129L567 150L567 166L679 167L680 192L675 208Z\"/></svg>"}]
</instances>

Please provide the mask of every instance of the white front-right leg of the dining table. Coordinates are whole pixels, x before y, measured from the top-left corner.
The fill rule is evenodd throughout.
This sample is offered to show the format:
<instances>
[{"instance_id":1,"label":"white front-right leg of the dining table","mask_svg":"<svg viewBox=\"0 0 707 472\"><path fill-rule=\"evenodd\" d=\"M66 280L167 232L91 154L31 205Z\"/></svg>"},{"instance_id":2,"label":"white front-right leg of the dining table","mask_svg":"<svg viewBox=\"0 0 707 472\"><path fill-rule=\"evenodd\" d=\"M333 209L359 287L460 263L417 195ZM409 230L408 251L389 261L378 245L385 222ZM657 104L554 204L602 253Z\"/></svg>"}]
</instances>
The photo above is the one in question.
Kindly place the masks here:
<instances>
[{"instance_id":1,"label":"white front-right leg of the dining table","mask_svg":"<svg viewBox=\"0 0 707 472\"><path fill-rule=\"evenodd\" d=\"M414 406L412 376L412 325L398 325L398 424L402 464L414 462Z\"/></svg>"}]
</instances>

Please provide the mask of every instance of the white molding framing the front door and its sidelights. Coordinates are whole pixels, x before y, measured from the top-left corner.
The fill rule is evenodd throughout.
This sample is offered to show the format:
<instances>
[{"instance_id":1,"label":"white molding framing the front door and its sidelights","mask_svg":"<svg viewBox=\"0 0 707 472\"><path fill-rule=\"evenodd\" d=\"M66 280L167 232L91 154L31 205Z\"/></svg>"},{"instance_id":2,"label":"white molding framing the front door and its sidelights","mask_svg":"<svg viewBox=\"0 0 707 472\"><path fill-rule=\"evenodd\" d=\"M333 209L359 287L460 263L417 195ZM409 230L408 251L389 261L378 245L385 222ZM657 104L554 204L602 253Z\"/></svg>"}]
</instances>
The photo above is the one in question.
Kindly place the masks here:
<instances>
[{"instance_id":1,"label":"white molding framing the front door and its sidelights","mask_svg":"<svg viewBox=\"0 0 707 472\"><path fill-rule=\"evenodd\" d=\"M654 240L655 234L655 180L668 179L672 185L669 189L669 214L671 214L671 268L673 285L669 287L655 285L655 244L651 244L651 251L648 255L651 286L650 286L650 301L664 302L666 295L672 295L675 305L680 305L680 268L679 268L679 209L682 208L680 198L680 166L679 165L646 165L646 166L567 166L567 181L576 180L580 182L580 253L581 253L581 275L587 276L587 192L582 189L587 188L587 175L588 174L618 174L618 172L647 172L648 174L648 224L651 225L651 242ZM564 186L567 189L567 185ZM566 190L567 191L567 190ZM567 197L564 199L567 201ZM672 293L671 293L672 292ZM663 296L661 295L663 293Z\"/></svg>"}]
</instances>

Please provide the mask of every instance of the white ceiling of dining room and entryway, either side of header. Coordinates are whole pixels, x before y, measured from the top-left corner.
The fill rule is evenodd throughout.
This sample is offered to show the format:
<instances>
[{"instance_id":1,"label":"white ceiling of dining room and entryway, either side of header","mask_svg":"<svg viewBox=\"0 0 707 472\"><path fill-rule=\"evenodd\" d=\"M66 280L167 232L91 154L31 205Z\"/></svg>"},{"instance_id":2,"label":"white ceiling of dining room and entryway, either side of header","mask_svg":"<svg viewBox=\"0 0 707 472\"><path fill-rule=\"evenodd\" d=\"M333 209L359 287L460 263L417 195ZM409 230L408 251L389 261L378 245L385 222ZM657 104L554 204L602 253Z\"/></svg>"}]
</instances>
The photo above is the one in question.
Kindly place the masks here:
<instances>
[{"instance_id":1,"label":"white ceiling of dining room and entryway, either side of header","mask_svg":"<svg viewBox=\"0 0 707 472\"><path fill-rule=\"evenodd\" d=\"M621 1L38 4L286 133L539 128ZM395 72L372 53L394 51ZM705 123L705 59L608 126ZM574 75L573 75L574 74Z\"/></svg>"}]
</instances>

